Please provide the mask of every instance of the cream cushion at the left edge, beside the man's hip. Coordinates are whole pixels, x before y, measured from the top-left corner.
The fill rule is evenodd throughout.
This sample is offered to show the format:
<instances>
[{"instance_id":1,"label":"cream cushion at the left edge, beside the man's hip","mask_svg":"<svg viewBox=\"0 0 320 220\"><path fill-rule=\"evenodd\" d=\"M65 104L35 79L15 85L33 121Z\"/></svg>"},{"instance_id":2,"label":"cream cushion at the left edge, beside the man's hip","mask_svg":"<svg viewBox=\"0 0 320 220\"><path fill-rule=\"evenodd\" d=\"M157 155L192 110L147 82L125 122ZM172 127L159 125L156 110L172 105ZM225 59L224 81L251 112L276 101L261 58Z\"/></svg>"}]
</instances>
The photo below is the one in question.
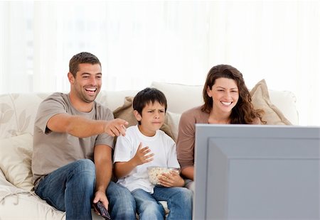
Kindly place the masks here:
<instances>
[{"instance_id":1,"label":"cream cushion at the left edge, beside the man's hip","mask_svg":"<svg viewBox=\"0 0 320 220\"><path fill-rule=\"evenodd\" d=\"M33 137L25 133L12 138L0 139L0 167L6 180L16 187L33 189L31 158Z\"/></svg>"}]
</instances>

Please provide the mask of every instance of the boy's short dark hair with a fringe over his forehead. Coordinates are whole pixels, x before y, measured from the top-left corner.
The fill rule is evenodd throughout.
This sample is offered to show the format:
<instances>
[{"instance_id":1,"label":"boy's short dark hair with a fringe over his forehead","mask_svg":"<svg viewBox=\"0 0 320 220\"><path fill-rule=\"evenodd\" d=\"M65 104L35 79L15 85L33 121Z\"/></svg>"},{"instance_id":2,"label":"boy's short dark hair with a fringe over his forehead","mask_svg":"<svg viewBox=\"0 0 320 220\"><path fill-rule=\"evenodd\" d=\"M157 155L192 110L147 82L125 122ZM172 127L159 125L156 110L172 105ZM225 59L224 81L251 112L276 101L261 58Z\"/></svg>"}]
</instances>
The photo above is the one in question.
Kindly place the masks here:
<instances>
[{"instance_id":1,"label":"boy's short dark hair with a fringe over his forehead","mask_svg":"<svg viewBox=\"0 0 320 220\"><path fill-rule=\"evenodd\" d=\"M132 101L132 107L134 110L137 110L142 116L142 109L151 102L154 104L155 101L158 101L161 105L164 106L164 112L166 112L166 96L159 89L149 88L143 89L138 92Z\"/></svg>"}]
</instances>

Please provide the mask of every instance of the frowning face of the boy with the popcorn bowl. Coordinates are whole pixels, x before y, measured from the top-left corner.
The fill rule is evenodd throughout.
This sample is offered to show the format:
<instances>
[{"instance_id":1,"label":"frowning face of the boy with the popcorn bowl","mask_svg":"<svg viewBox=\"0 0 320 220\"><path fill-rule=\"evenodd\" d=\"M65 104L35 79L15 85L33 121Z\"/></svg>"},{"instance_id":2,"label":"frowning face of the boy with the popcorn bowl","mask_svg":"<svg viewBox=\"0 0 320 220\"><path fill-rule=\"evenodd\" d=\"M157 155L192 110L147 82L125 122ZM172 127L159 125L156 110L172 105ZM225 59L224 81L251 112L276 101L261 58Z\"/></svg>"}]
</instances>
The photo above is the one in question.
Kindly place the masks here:
<instances>
[{"instance_id":1,"label":"frowning face of the boy with the popcorn bowl","mask_svg":"<svg viewBox=\"0 0 320 220\"><path fill-rule=\"evenodd\" d=\"M165 108L158 101L154 101L154 104L150 101L144 109L142 109L142 115L138 111L134 111L134 116L137 121L141 122L139 130L145 136L154 136L156 131L164 124Z\"/></svg>"}]
</instances>

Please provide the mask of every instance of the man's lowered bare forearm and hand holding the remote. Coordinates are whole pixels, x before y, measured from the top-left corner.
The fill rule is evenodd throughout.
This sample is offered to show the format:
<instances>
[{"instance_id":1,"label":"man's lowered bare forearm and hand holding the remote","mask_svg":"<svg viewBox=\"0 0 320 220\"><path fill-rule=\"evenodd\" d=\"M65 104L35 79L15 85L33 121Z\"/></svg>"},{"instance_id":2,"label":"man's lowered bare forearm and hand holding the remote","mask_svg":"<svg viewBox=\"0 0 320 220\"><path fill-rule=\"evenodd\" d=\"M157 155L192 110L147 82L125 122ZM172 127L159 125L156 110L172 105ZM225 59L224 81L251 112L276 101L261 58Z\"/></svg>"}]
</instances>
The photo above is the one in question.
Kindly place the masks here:
<instances>
[{"instance_id":1,"label":"man's lowered bare forearm and hand holding the remote","mask_svg":"<svg viewBox=\"0 0 320 220\"><path fill-rule=\"evenodd\" d=\"M107 145L96 145L94 160L96 181L93 202L101 201L108 208L109 201L106 196L106 189L112 175L112 148Z\"/></svg>"}]
</instances>

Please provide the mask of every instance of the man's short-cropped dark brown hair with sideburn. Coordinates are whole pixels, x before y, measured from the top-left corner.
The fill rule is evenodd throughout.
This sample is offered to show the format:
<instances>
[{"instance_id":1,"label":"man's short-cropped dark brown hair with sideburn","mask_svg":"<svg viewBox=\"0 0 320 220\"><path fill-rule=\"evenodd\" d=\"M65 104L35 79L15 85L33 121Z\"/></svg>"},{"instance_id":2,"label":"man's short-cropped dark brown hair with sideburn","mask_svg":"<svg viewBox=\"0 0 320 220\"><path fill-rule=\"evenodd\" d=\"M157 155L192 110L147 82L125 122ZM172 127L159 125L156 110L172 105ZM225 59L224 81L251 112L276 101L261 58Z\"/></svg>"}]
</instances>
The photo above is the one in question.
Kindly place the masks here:
<instances>
[{"instance_id":1,"label":"man's short-cropped dark brown hair with sideburn","mask_svg":"<svg viewBox=\"0 0 320 220\"><path fill-rule=\"evenodd\" d=\"M92 65L99 64L101 67L100 60L92 53L78 53L74 55L69 62L69 72L73 74L73 77L77 74L80 63L90 63Z\"/></svg>"}]
</instances>

